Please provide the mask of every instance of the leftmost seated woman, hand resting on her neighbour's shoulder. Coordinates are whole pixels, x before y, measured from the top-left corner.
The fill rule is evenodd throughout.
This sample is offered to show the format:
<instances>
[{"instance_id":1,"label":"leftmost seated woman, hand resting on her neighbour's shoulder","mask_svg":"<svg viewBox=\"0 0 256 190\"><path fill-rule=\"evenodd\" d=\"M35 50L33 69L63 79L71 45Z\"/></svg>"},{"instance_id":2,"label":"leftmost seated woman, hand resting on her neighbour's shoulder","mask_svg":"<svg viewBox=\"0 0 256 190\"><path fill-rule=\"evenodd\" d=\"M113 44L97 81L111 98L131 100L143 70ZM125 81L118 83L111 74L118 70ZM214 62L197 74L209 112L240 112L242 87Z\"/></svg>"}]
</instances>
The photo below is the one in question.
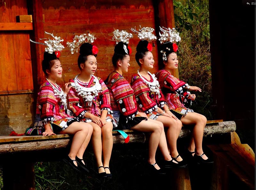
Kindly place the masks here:
<instances>
[{"instance_id":1,"label":"leftmost seated woman, hand resting on her neighbour's shoulder","mask_svg":"<svg viewBox=\"0 0 256 190\"><path fill-rule=\"evenodd\" d=\"M64 48L61 44L63 40L60 37L53 36L53 34L50 35L54 37L54 40L46 40L41 43L47 47L42 61L42 68L46 78L37 96L37 115L40 115L40 120L37 120L36 126L29 128L26 134L33 135L33 132L39 131L43 136L55 134L73 135L70 151L64 157L64 161L78 172L89 172L85 167L84 161L80 158L83 157L84 151L90 142L93 129L89 123L79 122L76 117L67 114L66 97L70 89L68 87L69 83L65 84L64 91L56 84L56 80L62 77L59 57L60 51ZM39 129L38 126L41 126L41 128Z\"/></svg>"}]
</instances>

